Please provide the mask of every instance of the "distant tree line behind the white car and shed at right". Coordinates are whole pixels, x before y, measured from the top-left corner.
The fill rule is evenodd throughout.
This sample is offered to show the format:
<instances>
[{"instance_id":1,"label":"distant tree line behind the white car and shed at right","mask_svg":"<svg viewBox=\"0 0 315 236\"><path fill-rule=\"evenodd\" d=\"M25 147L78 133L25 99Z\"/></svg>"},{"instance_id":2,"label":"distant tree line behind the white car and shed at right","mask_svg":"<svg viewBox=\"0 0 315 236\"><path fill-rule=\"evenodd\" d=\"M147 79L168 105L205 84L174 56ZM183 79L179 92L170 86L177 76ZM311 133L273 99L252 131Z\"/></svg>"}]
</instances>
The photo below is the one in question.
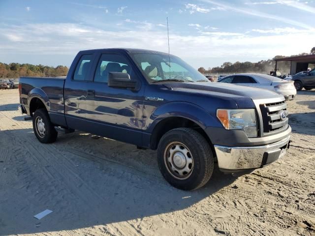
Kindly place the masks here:
<instances>
[{"instance_id":1,"label":"distant tree line behind the white car and shed at right","mask_svg":"<svg viewBox=\"0 0 315 236\"><path fill-rule=\"evenodd\" d=\"M315 54L315 47L311 49L310 53L301 53L299 55L292 55L294 56L303 56L303 55L310 55ZM216 74L216 73L249 73L249 72L258 72L258 73L268 73L275 69L275 59L285 58L285 56L276 56L273 59L268 60L260 60L258 62L240 62L236 61L235 63L232 62L224 62L221 66L217 67L209 67L205 69L204 67L199 67L198 71L200 73L209 73L209 74ZM289 73L290 72L290 61L279 61L277 67L280 68L280 72L282 73Z\"/></svg>"}]
</instances>

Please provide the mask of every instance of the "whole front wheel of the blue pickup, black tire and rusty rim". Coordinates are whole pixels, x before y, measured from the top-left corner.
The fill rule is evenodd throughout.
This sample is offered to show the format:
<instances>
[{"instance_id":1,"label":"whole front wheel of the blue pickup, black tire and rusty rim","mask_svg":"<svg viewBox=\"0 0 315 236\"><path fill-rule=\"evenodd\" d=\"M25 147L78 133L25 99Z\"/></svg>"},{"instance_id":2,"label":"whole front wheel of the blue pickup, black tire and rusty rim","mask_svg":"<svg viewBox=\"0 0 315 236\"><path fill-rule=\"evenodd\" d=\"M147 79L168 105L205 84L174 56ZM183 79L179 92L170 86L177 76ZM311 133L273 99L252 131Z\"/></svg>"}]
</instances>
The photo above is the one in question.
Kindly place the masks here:
<instances>
[{"instance_id":1,"label":"whole front wheel of the blue pickup, black tire and rusty rim","mask_svg":"<svg viewBox=\"0 0 315 236\"><path fill-rule=\"evenodd\" d=\"M183 155L184 159L181 159ZM185 167L178 168L175 165L178 159L176 161L175 158L185 160ZM180 161L180 164L183 163ZM175 188L195 190L205 185L212 176L214 158L209 143L200 133L190 128L177 128L165 133L158 144L158 167L166 181ZM189 173L182 172L187 168Z\"/></svg>"}]
</instances>

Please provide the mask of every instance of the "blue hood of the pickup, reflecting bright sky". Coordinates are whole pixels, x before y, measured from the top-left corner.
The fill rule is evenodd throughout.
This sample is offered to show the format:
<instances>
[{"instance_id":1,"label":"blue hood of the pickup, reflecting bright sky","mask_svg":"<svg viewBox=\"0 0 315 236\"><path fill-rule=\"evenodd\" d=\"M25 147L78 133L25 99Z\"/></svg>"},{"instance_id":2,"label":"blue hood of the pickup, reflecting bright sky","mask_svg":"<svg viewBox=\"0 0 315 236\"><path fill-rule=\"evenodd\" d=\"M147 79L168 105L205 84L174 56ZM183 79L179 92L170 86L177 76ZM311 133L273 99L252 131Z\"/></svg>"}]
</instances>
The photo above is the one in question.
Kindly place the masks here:
<instances>
[{"instance_id":1,"label":"blue hood of the pickup, reflecting bright sky","mask_svg":"<svg viewBox=\"0 0 315 236\"><path fill-rule=\"evenodd\" d=\"M232 85L227 83L165 83L168 88L185 90L191 92L205 93L205 94L217 94L221 93L227 97L248 97L251 99L262 99L262 98L278 98L280 94L267 90L258 89L248 86Z\"/></svg>"}]
</instances>

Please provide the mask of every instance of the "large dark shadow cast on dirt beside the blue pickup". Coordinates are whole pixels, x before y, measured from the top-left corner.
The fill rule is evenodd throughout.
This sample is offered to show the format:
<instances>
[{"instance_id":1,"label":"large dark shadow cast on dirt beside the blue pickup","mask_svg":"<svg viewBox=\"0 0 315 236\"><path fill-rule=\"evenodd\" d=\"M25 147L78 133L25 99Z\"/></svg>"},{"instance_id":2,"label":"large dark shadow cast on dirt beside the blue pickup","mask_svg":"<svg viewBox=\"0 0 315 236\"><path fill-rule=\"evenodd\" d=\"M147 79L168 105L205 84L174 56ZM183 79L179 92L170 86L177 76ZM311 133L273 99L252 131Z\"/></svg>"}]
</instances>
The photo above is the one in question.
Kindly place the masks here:
<instances>
[{"instance_id":1,"label":"large dark shadow cast on dirt beside the blue pickup","mask_svg":"<svg viewBox=\"0 0 315 236\"><path fill-rule=\"evenodd\" d=\"M44 145L32 129L4 130L0 146L7 150L0 152L0 235L74 230L183 210L207 204L236 179L215 171L203 188L181 191L159 174L155 151L80 132ZM33 217L47 208L53 213Z\"/></svg>"}]
</instances>

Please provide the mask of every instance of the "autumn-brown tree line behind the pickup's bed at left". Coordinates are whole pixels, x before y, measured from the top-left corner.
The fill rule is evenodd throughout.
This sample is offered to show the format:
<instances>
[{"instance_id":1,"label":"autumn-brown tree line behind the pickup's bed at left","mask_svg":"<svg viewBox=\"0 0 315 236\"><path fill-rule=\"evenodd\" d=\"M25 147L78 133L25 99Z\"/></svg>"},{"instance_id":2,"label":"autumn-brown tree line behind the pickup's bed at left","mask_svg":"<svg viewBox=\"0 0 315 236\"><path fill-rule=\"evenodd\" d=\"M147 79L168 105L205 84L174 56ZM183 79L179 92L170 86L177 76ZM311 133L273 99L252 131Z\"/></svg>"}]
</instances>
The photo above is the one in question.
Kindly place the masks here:
<instances>
[{"instance_id":1,"label":"autumn-brown tree line behind the pickup's bed at left","mask_svg":"<svg viewBox=\"0 0 315 236\"><path fill-rule=\"evenodd\" d=\"M6 64L0 62L0 78L19 78L23 76L58 77L66 76L67 73L68 67L63 65L53 67L41 64Z\"/></svg>"}]
</instances>

